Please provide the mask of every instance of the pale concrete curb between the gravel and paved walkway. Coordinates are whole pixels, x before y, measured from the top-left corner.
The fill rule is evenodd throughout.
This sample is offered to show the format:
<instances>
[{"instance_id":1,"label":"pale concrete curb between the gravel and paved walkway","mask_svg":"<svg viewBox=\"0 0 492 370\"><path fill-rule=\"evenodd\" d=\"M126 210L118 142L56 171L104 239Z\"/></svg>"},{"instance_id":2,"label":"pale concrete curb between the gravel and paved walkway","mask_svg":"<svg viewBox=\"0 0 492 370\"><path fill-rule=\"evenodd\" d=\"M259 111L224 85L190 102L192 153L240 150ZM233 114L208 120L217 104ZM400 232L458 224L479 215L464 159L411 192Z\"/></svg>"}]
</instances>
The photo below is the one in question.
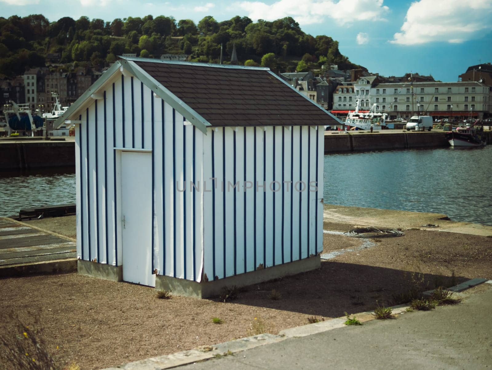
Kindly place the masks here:
<instances>
[{"instance_id":1,"label":"pale concrete curb between the gravel and paved walkway","mask_svg":"<svg viewBox=\"0 0 492 370\"><path fill-rule=\"evenodd\" d=\"M448 288L452 290L458 286L464 286L461 290L470 288L475 285L482 283L488 283L492 285L492 280L487 279L471 279L467 282L461 283L456 286ZM432 290L433 291L433 290ZM458 290L453 290L458 291ZM427 293L427 292L424 292ZM460 295L460 293L455 293ZM406 313L409 305L397 305L390 307L392 313L395 316ZM361 313L353 313L351 316L356 316L361 322L376 320L374 311L367 311ZM278 335L274 334L260 334L252 337L246 337L242 339L237 339L235 341L223 342L219 344L214 344L210 346L203 346L197 349L190 349L187 351L177 352L170 355L152 357L145 360L139 360L134 362L129 362L127 364L105 368L101 370L164 370L172 369L178 366L191 364L198 361L210 360L212 358L220 358L223 356L233 355L234 353L245 351L246 349L251 349L258 347L260 345L272 344L277 342L285 341L289 338L301 338L307 337L309 335L318 334L326 332L333 329L338 329L345 327L344 324L345 317L337 317L326 321L320 321L313 324L307 324L302 326L296 326L294 328L288 328L281 330Z\"/></svg>"}]
</instances>

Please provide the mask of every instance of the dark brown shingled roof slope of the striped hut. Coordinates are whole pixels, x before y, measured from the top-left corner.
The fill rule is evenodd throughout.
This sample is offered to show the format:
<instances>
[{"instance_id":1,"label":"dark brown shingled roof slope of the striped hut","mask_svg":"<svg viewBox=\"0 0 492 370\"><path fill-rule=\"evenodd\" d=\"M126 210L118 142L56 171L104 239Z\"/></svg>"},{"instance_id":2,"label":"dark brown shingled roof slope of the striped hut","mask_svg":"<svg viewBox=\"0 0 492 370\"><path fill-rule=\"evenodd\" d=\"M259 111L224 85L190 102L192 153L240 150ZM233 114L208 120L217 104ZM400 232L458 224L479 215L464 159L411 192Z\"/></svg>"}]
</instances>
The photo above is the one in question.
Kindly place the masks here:
<instances>
[{"instance_id":1,"label":"dark brown shingled roof slope of the striped hut","mask_svg":"<svg viewBox=\"0 0 492 370\"><path fill-rule=\"evenodd\" d=\"M133 62L212 126L335 123L331 115L265 69Z\"/></svg>"}]
</instances>

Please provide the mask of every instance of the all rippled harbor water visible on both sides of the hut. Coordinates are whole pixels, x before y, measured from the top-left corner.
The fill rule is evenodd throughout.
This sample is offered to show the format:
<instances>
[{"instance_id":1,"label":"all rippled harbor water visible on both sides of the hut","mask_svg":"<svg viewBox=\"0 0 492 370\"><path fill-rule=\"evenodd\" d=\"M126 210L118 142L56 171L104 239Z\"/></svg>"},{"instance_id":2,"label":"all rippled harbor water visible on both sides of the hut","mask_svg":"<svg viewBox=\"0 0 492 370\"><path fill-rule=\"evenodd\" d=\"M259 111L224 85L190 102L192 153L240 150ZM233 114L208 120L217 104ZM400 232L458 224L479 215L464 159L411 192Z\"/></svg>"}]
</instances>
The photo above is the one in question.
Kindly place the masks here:
<instances>
[{"instance_id":1,"label":"all rippled harbor water visible on both sides of the hut","mask_svg":"<svg viewBox=\"0 0 492 370\"><path fill-rule=\"evenodd\" d=\"M492 145L327 154L324 202L492 225ZM75 169L0 172L0 215L75 202Z\"/></svg>"}]
</instances>

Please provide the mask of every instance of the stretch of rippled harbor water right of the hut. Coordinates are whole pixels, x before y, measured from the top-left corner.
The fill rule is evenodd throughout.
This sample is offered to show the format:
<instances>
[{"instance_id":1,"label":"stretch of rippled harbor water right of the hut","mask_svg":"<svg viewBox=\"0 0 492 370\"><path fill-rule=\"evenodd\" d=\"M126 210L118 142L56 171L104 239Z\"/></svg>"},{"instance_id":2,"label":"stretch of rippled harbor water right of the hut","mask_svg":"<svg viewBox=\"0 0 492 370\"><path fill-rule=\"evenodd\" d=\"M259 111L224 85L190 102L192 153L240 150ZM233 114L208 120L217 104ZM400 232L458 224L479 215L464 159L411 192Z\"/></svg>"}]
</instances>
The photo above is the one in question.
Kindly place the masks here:
<instances>
[{"instance_id":1,"label":"stretch of rippled harbor water right of the hut","mask_svg":"<svg viewBox=\"0 0 492 370\"><path fill-rule=\"evenodd\" d=\"M324 202L492 225L492 145L327 154Z\"/></svg>"}]
</instances>

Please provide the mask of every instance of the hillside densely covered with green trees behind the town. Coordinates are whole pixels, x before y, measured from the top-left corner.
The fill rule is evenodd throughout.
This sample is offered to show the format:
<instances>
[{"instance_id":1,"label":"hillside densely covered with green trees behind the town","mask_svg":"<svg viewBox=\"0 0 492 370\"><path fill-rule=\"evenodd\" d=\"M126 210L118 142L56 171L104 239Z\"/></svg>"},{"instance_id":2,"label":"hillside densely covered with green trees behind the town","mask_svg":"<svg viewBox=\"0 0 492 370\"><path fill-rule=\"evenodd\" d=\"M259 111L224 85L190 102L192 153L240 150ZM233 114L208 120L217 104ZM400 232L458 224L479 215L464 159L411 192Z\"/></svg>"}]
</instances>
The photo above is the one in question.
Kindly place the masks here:
<instances>
[{"instance_id":1,"label":"hillside densely covered with green trees behind the town","mask_svg":"<svg viewBox=\"0 0 492 370\"><path fill-rule=\"evenodd\" d=\"M23 74L28 67L46 65L49 54L60 54L53 67L103 67L123 53L159 58L162 54L186 54L191 61L218 63L220 46L224 63L233 45L240 64L263 65L275 72L307 71L337 64L339 69L363 68L340 54L338 41L313 37L291 17L273 22L236 16L217 22L207 16L192 20L148 15L111 22L63 17L50 22L40 14L0 17L0 77Z\"/></svg>"}]
</instances>

